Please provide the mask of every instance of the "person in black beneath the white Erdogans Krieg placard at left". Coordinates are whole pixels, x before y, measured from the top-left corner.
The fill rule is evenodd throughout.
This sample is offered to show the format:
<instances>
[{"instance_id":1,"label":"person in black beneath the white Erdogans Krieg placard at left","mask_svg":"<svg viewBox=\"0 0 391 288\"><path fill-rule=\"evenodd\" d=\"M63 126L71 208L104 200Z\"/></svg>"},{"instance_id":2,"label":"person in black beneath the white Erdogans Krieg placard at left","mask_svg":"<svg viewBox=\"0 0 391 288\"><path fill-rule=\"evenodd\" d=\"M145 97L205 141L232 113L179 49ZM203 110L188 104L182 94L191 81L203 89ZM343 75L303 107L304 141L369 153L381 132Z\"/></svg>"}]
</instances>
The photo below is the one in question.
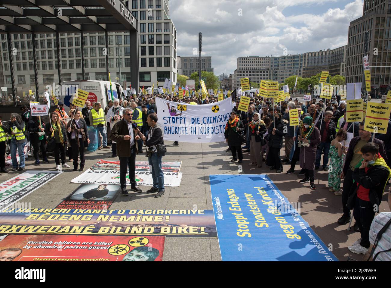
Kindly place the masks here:
<instances>
[{"instance_id":1,"label":"person in black beneath the white Erdogans Krieg placard at left","mask_svg":"<svg viewBox=\"0 0 391 288\"><path fill-rule=\"evenodd\" d=\"M45 123L41 123L40 116L32 116L29 121L29 132L30 132L30 143L34 147L34 158L35 165L41 165L39 162L39 150L41 150L43 162L49 163L46 158L46 134L45 134Z\"/></svg>"}]
</instances>

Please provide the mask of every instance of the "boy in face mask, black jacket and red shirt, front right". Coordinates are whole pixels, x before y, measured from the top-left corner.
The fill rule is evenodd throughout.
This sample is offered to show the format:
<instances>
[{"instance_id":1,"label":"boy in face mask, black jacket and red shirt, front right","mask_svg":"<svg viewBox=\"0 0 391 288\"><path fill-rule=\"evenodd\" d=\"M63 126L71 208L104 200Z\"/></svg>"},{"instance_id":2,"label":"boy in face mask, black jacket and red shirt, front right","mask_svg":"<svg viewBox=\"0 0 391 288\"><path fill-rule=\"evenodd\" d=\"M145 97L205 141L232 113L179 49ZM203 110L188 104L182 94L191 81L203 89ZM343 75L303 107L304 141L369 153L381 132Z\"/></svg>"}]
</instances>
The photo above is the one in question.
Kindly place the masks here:
<instances>
[{"instance_id":1,"label":"boy in face mask, black jacket and red shirt, front right","mask_svg":"<svg viewBox=\"0 0 391 288\"><path fill-rule=\"evenodd\" d=\"M353 171L353 182L349 193L347 208L353 208L353 216L360 228L361 238L348 249L355 254L366 254L370 246L369 228L379 211L384 188L391 177L391 170L380 156L379 145L369 142L362 146L362 161Z\"/></svg>"}]
</instances>

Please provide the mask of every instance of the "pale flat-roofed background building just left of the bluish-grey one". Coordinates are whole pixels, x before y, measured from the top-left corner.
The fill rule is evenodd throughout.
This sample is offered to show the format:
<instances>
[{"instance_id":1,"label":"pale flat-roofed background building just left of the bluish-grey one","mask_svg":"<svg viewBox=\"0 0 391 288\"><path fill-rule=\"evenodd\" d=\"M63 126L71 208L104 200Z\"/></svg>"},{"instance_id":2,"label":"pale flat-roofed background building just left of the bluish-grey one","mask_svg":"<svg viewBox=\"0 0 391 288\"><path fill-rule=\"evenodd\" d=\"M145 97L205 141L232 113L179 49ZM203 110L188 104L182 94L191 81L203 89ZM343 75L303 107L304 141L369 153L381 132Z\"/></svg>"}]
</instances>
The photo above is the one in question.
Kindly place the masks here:
<instances>
[{"instance_id":1,"label":"pale flat-roofed background building just left of the bluish-grey one","mask_svg":"<svg viewBox=\"0 0 391 288\"><path fill-rule=\"evenodd\" d=\"M269 79L270 57L248 56L237 59L234 72L233 89L240 87L240 78L249 78L250 82L260 83ZM259 87L254 87L259 88Z\"/></svg>"}]
</instances>

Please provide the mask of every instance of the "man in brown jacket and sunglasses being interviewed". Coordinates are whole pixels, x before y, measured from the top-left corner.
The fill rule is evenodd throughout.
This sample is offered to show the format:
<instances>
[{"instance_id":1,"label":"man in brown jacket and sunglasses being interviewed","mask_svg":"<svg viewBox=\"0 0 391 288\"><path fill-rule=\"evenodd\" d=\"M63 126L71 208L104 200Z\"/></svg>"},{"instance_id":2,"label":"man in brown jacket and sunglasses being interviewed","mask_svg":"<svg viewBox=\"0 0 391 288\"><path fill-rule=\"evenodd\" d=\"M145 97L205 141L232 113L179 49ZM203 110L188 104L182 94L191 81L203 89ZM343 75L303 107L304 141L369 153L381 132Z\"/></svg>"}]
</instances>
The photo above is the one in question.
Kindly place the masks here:
<instances>
[{"instance_id":1,"label":"man in brown jacket and sunglasses being interviewed","mask_svg":"<svg viewBox=\"0 0 391 288\"><path fill-rule=\"evenodd\" d=\"M126 190L126 172L129 168L129 180L131 184L131 191L142 192L136 184L136 153L138 154L136 141L140 139L133 127L132 109L125 109L123 111L124 118L115 123L111 130L110 139L117 142L117 155L120 159L120 184L122 195L128 196ZM137 126L136 126L137 127Z\"/></svg>"}]
</instances>

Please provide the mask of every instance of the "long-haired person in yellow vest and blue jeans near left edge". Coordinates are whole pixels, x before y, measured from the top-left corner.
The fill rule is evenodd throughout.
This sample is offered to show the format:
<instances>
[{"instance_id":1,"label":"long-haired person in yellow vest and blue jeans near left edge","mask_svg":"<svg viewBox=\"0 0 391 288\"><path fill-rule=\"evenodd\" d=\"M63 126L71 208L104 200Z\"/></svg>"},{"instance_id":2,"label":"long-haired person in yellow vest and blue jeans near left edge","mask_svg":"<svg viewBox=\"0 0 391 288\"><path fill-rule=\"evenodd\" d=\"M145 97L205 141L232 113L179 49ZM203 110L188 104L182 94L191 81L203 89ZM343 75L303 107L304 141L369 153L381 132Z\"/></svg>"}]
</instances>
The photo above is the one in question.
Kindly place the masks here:
<instances>
[{"instance_id":1,"label":"long-haired person in yellow vest and blue jeans near left edge","mask_svg":"<svg viewBox=\"0 0 391 288\"><path fill-rule=\"evenodd\" d=\"M8 130L11 134L9 143L13 167L11 171L22 171L25 168L24 147L26 145L26 136L24 132L26 127L22 117L18 113L11 113L10 119L11 123L8 124ZM16 159L16 149L18 149L19 153L19 167L18 160Z\"/></svg>"}]
</instances>

